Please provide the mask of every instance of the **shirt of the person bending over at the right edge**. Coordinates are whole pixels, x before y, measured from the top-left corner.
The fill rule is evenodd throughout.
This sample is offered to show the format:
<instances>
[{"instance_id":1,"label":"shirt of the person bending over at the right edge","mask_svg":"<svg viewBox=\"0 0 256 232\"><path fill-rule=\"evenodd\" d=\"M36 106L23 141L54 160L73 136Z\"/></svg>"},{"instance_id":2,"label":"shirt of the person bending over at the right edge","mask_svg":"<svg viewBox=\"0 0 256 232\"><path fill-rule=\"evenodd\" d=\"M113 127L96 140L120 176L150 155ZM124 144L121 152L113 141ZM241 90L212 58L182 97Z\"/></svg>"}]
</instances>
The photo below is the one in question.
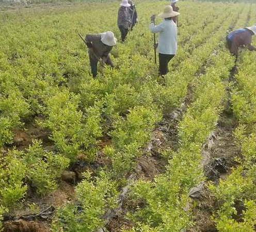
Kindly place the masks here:
<instances>
[{"instance_id":1,"label":"shirt of the person bending over at the right edge","mask_svg":"<svg viewBox=\"0 0 256 232\"><path fill-rule=\"evenodd\" d=\"M253 32L247 28L237 29L227 36L227 40L232 43L233 49L238 49L239 46L245 45L250 50L254 50L256 48L251 45L252 35Z\"/></svg>"}]
</instances>

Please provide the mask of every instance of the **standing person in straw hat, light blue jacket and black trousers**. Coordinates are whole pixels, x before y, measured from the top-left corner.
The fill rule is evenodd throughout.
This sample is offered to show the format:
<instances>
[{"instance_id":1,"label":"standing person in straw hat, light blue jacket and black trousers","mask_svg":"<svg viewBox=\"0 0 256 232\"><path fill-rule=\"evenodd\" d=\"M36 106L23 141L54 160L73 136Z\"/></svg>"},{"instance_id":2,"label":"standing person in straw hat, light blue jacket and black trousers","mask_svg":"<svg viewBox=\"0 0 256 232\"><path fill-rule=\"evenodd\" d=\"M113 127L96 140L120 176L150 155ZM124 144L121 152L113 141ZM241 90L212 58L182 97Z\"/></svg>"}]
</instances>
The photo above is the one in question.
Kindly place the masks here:
<instances>
[{"instance_id":1,"label":"standing person in straw hat, light blue jacket and black trousers","mask_svg":"<svg viewBox=\"0 0 256 232\"><path fill-rule=\"evenodd\" d=\"M150 18L150 30L153 33L159 32L159 75L166 75L168 73L168 63L175 56L177 51L177 26L173 22L173 17L179 14L179 12L173 11L171 6L166 6L164 12L159 14L159 16L164 18L161 24L157 26L154 25L154 14Z\"/></svg>"}]
</instances>

